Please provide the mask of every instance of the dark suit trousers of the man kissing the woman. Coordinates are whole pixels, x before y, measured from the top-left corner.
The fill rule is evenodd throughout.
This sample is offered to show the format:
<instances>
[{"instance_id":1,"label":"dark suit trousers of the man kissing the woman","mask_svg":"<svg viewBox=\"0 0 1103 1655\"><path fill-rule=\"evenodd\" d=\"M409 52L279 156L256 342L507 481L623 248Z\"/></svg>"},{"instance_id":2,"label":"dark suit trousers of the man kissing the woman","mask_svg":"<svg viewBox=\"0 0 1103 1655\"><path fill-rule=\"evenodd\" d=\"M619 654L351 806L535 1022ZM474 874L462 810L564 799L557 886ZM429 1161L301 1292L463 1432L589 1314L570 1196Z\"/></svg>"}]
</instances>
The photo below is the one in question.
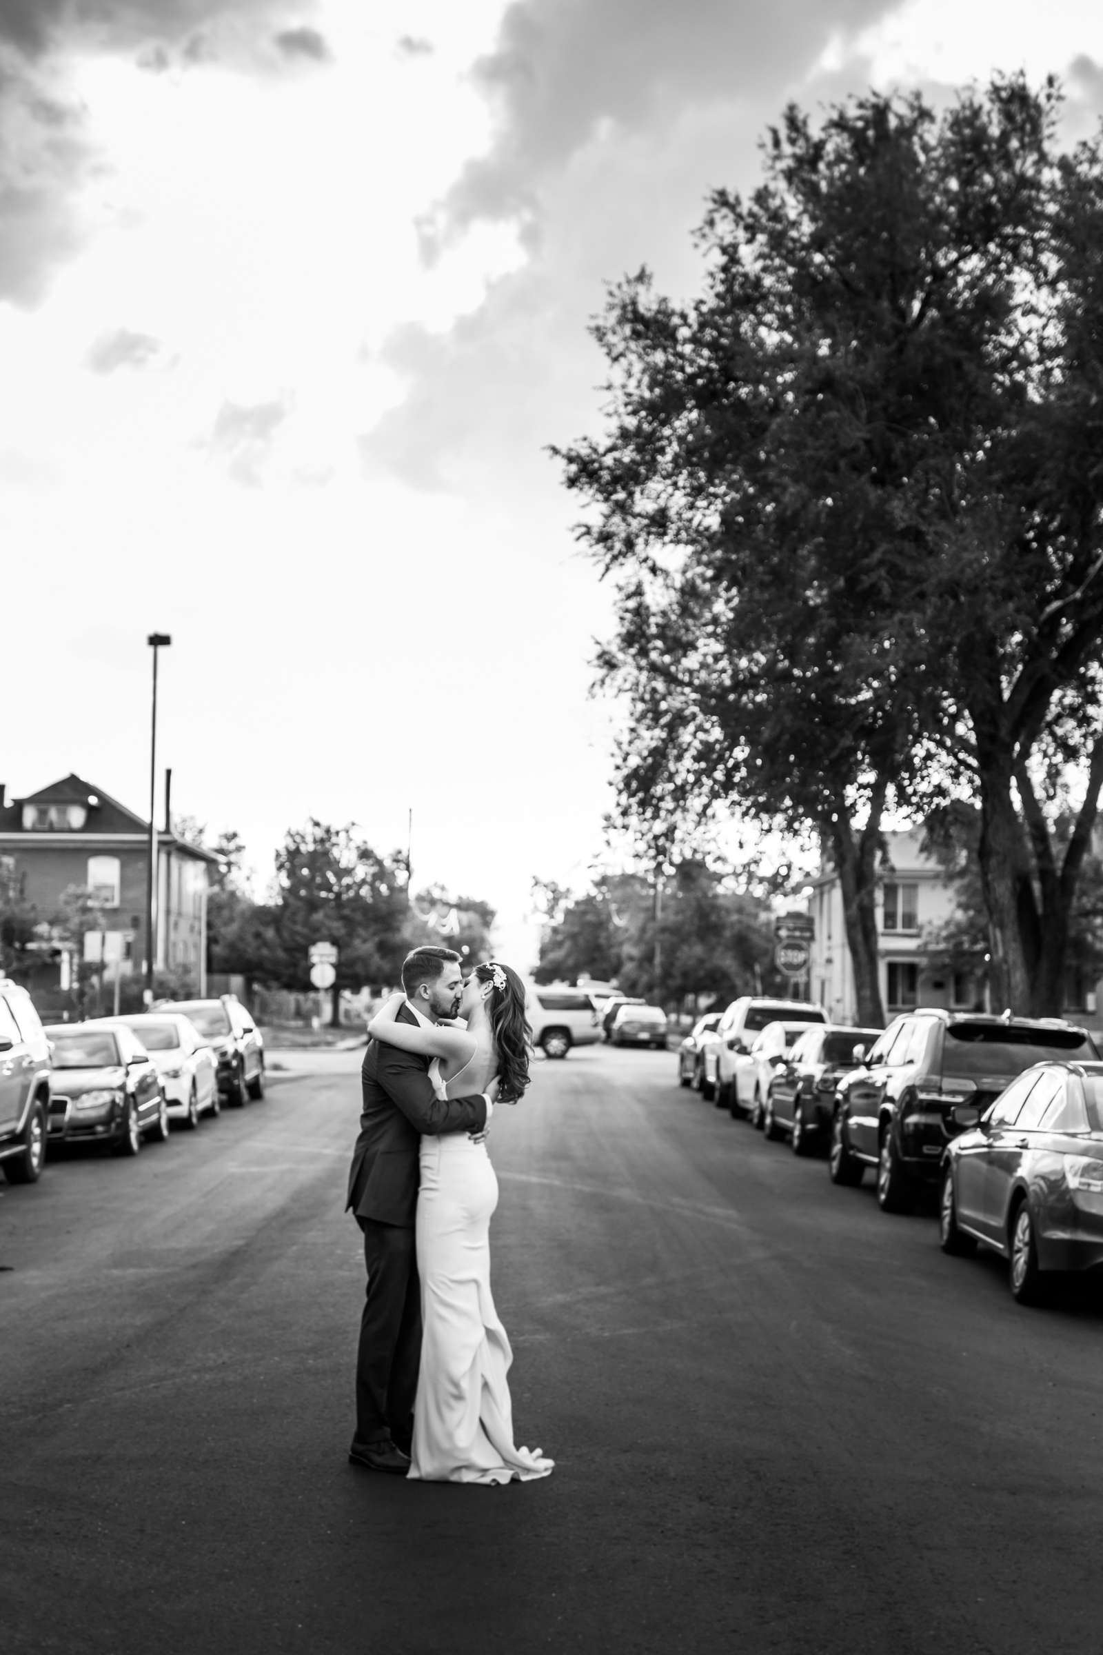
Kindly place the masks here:
<instances>
[{"instance_id":1,"label":"dark suit trousers of the man kissing the woman","mask_svg":"<svg viewBox=\"0 0 1103 1655\"><path fill-rule=\"evenodd\" d=\"M356 1357L356 1435L390 1437L410 1450L422 1360L422 1284L413 1230L357 1218L364 1231L367 1289Z\"/></svg>"}]
</instances>

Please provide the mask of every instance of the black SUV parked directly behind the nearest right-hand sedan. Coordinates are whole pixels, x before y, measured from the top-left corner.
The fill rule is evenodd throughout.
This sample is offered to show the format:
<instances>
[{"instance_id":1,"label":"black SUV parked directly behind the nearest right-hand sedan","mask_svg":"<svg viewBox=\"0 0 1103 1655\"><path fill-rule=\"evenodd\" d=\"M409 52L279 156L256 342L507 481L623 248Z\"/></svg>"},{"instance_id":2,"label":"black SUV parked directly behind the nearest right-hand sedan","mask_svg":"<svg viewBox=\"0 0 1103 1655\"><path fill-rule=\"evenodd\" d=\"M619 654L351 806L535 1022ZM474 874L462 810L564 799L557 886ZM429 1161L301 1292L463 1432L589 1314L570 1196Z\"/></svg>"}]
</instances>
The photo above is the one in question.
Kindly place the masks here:
<instances>
[{"instance_id":1,"label":"black SUV parked directly behind the nearest right-hand sedan","mask_svg":"<svg viewBox=\"0 0 1103 1655\"><path fill-rule=\"evenodd\" d=\"M1098 1058L1091 1036L1060 1018L928 1008L898 1016L835 1091L828 1170L860 1183L876 1167L886 1213L908 1211L941 1175L946 1145L976 1109L1047 1058ZM967 1114L959 1114L966 1109Z\"/></svg>"}]
</instances>

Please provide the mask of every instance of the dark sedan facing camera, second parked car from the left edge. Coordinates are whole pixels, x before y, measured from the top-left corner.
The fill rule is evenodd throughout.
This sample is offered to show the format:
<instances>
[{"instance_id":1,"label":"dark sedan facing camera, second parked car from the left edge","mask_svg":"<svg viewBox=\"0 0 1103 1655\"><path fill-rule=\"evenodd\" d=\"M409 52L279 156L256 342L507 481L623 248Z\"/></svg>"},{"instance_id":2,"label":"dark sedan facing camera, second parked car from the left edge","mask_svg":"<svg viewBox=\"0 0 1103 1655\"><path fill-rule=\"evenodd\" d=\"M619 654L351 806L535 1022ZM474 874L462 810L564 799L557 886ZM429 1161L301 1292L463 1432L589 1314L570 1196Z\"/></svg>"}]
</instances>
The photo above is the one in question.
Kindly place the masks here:
<instances>
[{"instance_id":1,"label":"dark sedan facing camera, second parked car from the left edge","mask_svg":"<svg viewBox=\"0 0 1103 1655\"><path fill-rule=\"evenodd\" d=\"M169 1137L169 1106L154 1063L134 1029L89 1018L53 1023L50 1039L50 1137L109 1144L137 1155L142 1137Z\"/></svg>"}]
</instances>

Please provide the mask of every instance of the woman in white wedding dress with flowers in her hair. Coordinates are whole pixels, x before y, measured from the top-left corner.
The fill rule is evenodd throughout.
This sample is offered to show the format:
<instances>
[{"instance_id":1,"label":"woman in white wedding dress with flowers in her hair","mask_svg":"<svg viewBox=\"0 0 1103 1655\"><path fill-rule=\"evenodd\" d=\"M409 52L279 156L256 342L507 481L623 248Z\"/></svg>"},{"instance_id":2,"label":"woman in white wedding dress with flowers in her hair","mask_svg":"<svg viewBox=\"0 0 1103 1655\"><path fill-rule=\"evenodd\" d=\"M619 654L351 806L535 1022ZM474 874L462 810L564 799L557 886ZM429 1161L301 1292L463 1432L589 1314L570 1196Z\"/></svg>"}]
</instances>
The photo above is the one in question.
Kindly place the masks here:
<instances>
[{"instance_id":1,"label":"woman in white wedding dress with flowers in her hair","mask_svg":"<svg viewBox=\"0 0 1103 1655\"><path fill-rule=\"evenodd\" d=\"M395 1021L392 995L367 1033L432 1058L442 1097L485 1091L498 1076L498 1102L516 1104L529 1084L531 1029L524 983L508 965L476 965L455 1024ZM460 1084L461 1082L461 1084ZM407 1473L432 1483L511 1483L547 1476L554 1460L513 1442L506 1329L489 1291L489 1220L498 1178L486 1144L466 1132L422 1139L417 1268L422 1278L422 1365Z\"/></svg>"}]
</instances>

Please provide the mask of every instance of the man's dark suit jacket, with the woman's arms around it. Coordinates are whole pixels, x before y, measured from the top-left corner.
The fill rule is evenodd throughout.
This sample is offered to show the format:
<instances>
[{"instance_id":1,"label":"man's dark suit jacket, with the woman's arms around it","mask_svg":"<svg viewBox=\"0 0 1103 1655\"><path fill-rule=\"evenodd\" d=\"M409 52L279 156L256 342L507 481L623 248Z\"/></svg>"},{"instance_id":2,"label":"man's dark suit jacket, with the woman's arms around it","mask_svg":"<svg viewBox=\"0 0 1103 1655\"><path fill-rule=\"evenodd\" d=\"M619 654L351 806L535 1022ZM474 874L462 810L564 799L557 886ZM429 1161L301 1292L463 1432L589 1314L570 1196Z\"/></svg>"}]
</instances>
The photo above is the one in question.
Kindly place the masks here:
<instances>
[{"instance_id":1,"label":"man's dark suit jacket, with the woman's arms around it","mask_svg":"<svg viewBox=\"0 0 1103 1655\"><path fill-rule=\"evenodd\" d=\"M399 1023L417 1026L408 1006L399 1008ZM486 1125L481 1092L437 1097L428 1077L430 1061L382 1041L369 1043L361 1071L364 1111L346 1202L346 1210L351 1206L357 1218L412 1228L422 1135L481 1132Z\"/></svg>"}]
</instances>

